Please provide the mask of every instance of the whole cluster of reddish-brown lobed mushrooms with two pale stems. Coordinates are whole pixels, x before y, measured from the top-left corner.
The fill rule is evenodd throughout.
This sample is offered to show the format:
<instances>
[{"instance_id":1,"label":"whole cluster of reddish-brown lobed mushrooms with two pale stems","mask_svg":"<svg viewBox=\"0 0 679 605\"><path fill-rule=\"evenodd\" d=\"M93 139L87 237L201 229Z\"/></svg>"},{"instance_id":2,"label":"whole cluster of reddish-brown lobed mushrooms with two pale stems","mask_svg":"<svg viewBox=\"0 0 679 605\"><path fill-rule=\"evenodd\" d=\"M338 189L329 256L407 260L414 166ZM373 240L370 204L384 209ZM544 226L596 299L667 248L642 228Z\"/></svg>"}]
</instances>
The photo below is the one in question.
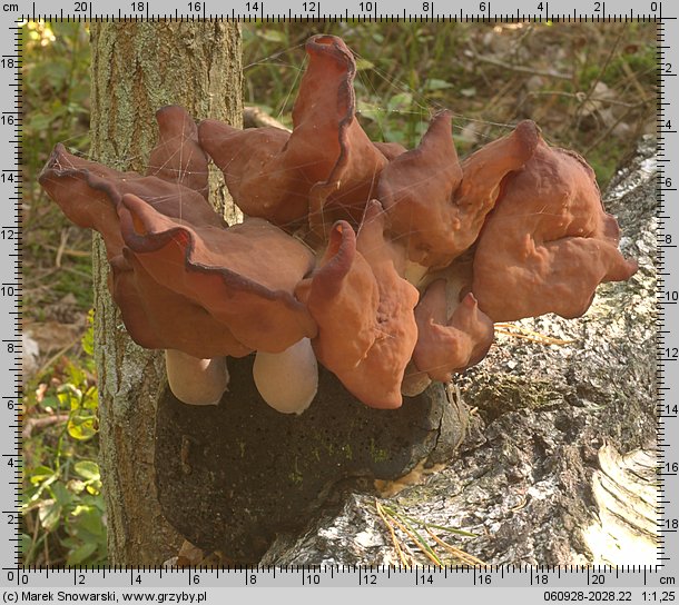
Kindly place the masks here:
<instances>
[{"instance_id":1,"label":"whole cluster of reddish-brown lobed mushrooms with two pale stems","mask_svg":"<svg viewBox=\"0 0 679 605\"><path fill-rule=\"evenodd\" d=\"M600 282L636 271L591 168L533 122L462 161L447 111L415 149L373 142L352 52L333 36L306 52L292 132L165 107L145 176L62 145L40 176L102 235L127 330L166 349L180 400L217 403L226 357L256 351L255 384L281 411L311 404L317 361L364 404L396 408L478 364L495 321L580 316ZM244 222L208 202L208 158Z\"/></svg>"}]
</instances>

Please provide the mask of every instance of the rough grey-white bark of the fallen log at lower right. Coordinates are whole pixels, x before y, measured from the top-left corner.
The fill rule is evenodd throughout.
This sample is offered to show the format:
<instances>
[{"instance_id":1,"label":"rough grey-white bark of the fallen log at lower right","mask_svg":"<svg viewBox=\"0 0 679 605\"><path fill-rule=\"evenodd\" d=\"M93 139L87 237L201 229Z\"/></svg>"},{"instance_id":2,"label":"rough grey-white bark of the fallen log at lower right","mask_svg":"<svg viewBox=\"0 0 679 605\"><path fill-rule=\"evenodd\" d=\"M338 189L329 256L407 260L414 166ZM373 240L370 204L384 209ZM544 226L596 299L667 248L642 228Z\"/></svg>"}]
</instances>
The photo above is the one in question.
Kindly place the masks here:
<instances>
[{"instance_id":1,"label":"rough grey-white bark of the fallen log at lower right","mask_svg":"<svg viewBox=\"0 0 679 605\"><path fill-rule=\"evenodd\" d=\"M646 141L607 196L638 274L600 287L580 319L520 323L569 344L498 338L459 381L479 410L459 459L391 498L348 492L302 534L278 536L263 564L398 564L411 556L430 563L394 529L403 545L397 556L376 502L425 536L445 563L470 559L417 524L488 564L658 562L653 153Z\"/></svg>"}]
</instances>

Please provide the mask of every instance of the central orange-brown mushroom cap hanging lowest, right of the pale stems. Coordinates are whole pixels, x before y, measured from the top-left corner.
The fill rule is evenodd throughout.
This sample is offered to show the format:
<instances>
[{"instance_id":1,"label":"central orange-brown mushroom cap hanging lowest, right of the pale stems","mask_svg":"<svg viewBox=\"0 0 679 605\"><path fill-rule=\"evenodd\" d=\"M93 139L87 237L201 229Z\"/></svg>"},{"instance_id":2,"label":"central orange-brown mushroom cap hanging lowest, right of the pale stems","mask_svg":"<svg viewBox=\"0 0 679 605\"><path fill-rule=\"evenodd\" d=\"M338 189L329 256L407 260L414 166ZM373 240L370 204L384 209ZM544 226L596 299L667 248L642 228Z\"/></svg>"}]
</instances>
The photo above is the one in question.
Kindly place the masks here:
<instances>
[{"instance_id":1,"label":"central orange-brown mushroom cap hanging lowest, right of the pale stems","mask_svg":"<svg viewBox=\"0 0 679 605\"><path fill-rule=\"evenodd\" d=\"M368 204L358 236L338 221L311 279L297 287L318 324L318 360L364 404L396 408L417 338L416 288L401 278L403 251L384 238L385 214Z\"/></svg>"}]
</instances>

